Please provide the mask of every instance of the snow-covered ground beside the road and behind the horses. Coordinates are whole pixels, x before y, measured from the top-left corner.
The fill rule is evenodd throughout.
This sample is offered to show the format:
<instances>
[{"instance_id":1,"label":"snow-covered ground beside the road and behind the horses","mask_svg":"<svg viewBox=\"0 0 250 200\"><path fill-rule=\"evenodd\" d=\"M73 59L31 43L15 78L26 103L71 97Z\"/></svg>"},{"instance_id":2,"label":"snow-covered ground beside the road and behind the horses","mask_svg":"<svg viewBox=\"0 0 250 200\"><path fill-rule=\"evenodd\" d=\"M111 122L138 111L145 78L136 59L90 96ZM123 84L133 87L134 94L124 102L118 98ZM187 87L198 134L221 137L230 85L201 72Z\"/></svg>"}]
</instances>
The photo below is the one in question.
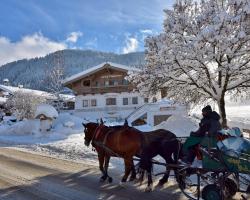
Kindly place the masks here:
<instances>
[{"instance_id":1,"label":"snow-covered ground beside the road and behind the horses","mask_svg":"<svg viewBox=\"0 0 250 200\"><path fill-rule=\"evenodd\" d=\"M250 105L230 106L227 111L230 125L250 129ZM96 152L84 145L83 121L73 114L60 113L50 131L40 132L38 119L10 122L10 119L6 118L0 124L0 143L2 146L18 147L39 154L97 165ZM106 122L106 124L118 125L119 123ZM198 128L197 125L197 119L175 115L156 127L143 125L136 128L142 131L165 128L173 131L177 136L188 136L190 131ZM112 158L111 167L123 170L123 161Z\"/></svg>"}]
</instances>

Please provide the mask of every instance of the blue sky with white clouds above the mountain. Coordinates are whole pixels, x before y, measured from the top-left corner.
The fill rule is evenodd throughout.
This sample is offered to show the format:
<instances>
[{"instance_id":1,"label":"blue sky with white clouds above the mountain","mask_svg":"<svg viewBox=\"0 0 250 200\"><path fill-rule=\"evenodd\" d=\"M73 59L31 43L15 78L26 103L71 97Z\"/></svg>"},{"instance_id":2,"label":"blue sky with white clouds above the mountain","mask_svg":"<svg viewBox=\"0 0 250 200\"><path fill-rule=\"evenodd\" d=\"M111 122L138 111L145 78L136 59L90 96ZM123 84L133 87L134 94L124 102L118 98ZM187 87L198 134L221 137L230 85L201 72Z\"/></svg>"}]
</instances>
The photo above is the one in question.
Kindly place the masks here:
<instances>
[{"instance_id":1,"label":"blue sky with white clouds above the mountain","mask_svg":"<svg viewBox=\"0 0 250 200\"><path fill-rule=\"evenodd\" d=\"M65 49L144 50L174 0L1 0L0 65Z\"/></svg>"}]
</instances>

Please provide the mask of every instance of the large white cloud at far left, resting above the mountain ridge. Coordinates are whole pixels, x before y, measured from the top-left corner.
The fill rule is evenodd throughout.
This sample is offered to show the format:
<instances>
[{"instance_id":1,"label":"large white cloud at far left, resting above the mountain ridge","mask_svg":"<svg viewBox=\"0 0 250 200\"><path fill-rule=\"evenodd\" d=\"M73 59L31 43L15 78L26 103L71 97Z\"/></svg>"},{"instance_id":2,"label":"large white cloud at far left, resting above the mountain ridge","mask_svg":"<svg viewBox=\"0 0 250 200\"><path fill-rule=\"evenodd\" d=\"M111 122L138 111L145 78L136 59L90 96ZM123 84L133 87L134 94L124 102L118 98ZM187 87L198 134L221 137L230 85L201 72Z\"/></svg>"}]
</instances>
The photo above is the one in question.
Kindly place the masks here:
<instances>
[{"instance_id":1,"label":"large white cloud at far left, resting above the mountain ridge","mask_svg":"<svg viewBox=\"0 0 250 200\"><path fill-rule=\"evenodd\" d=\"M66 48L65 43L50 40L41 33L24 36L17 42L11 42L8 38L0 36L0 65L24 58L45 56Z\"/></svg>"}]
</instances>

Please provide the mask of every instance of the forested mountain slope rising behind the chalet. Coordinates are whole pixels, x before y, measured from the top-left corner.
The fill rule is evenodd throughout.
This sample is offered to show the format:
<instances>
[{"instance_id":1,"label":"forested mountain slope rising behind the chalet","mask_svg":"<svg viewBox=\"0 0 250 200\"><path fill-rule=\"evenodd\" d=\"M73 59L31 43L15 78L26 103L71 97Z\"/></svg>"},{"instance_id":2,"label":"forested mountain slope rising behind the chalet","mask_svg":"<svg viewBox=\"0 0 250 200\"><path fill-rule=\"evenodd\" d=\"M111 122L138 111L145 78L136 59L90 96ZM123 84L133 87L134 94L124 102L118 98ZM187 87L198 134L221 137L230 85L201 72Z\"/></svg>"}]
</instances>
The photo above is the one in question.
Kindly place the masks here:
<instances>
[{"instance_id":1,"label":"forested mountain slope rising behind the chalet","mask_svg":"<svg viewBox=\"0 0 250 200\"><path fill-rule=\"evenodd\" d=\"M47 90L45 82L49 72L55 66L64 67L65 77L79 73L102 62L114 62L123 65L141 66L144 64L144 53L114 54L91 50L62 50L45 57L30 60L19 60L0 67L0 83L8 78L10 84L18 84L32 89Z\"/></svg>"}]
</instances>

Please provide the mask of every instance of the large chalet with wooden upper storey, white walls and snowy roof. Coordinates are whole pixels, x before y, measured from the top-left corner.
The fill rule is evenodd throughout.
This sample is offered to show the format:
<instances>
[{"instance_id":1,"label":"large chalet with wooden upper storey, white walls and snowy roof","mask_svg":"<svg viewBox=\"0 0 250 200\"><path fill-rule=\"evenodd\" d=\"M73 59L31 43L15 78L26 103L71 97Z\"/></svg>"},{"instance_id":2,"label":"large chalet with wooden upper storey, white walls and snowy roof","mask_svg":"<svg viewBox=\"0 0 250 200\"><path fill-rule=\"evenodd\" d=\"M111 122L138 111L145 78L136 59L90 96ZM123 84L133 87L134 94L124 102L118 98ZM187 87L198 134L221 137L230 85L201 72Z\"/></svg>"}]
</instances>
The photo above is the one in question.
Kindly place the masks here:
<instances>
[{"instance_id":1,"label":"large chalet with wooden upper storey, white walls and snowy roof","mask_svg":"<svg viewBox=\"0 0 250 200\"><path fill-rule=\"evenodd\" d=\"M142 97L125 79L128 71L139 69L105 62L66 78L64 85L76 95L74 113L87 119L127 118L130 123L145 119L156 125L176 112L169 102L152 103L152 97Z\"/></svg>"}]
</instances>

